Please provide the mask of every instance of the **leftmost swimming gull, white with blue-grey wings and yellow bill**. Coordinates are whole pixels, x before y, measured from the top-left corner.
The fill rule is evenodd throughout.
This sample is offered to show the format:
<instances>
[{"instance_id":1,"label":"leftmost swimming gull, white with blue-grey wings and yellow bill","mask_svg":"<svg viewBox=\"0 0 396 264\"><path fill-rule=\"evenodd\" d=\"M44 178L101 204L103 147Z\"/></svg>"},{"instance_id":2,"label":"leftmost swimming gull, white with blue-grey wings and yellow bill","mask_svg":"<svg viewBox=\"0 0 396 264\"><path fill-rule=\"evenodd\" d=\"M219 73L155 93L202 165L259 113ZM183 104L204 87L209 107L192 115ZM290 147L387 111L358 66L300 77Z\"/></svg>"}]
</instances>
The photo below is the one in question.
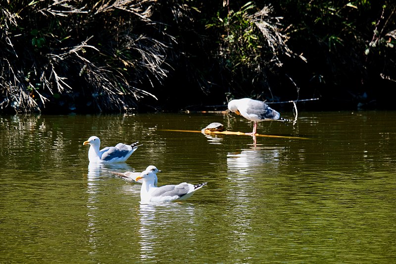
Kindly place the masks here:
<instances>
[{"instance_id":1,"label":"leftmost swimming gull, white with blue-grey wings and yellow bill","mask_svg":"<svg viewBox=\"0 0 396 264\"><path fill-rule=\"evenodd\" d=\"M134 153L139 146L139 142L135 142L131 145L118 143L115 147L106 147L99 151L100 139L96 136L90 137L87 141L84 141L83 145L91 145L88 151L88 158L92 163L104 163L104 162L125 162L132 153Z\"/></svg>"}]
</instances>

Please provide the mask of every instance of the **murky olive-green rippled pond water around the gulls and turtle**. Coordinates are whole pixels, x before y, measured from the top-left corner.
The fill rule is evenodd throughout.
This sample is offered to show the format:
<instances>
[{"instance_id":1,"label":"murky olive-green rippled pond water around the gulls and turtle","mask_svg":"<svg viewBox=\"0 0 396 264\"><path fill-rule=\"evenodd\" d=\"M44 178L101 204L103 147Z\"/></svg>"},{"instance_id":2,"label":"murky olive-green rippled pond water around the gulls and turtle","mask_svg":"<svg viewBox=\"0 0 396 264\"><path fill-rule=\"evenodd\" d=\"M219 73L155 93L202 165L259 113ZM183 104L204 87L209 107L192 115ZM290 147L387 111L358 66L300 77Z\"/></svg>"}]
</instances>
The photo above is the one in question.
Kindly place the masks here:
<instances>
[{"instance_id":1,"label":"murky olive-green rippled pond water around the gulls and turtle","mask_svg":"<svg viewBox=\"0 0 396 264\"><path fill-rule=\"evenodd\" d=\"M284 117L293 118L292 113ZM220 113L0 116L0 263L395 263L396 112L299 112L280 138L203 135ZM89 165L139 141L125 163ZM298 138L293 138L298 137ZM183 203L141 204L114 171L208 182Z\"/></svg>"}]
</instances>

